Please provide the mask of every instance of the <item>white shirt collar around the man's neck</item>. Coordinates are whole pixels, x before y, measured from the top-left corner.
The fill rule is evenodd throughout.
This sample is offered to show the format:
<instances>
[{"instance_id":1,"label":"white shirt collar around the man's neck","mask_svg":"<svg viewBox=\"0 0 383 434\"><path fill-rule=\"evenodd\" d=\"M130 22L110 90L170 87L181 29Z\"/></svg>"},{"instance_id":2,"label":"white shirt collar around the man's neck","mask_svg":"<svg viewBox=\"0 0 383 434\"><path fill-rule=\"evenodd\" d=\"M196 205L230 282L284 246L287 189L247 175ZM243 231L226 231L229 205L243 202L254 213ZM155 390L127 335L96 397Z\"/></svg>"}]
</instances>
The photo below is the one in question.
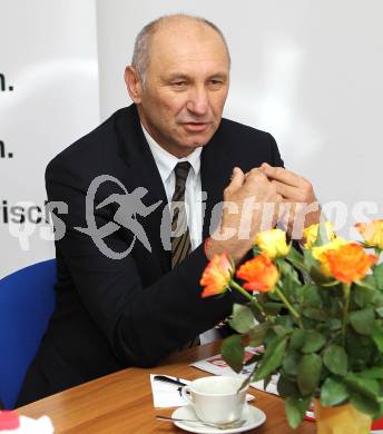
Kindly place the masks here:
<instances>
[{"instance_id":1,"label":"white shirt collar around the man's neck","mask_svg":"<svg viewBox=\"0 0 383 434\"><path fill-rule=\"evenodd\" d=\"M199 146L192 154L184 158L177 158L173 154L165 150L160 145L156 142L156 140L149 135L149 132L145 129L141 124L141 128L145 135L145 138L149 145L153 157L158 167L159 175L161 177L163 183L166 183L171 175L174 168L177 162L189 161L193 168L194 175L198 176L200 169L200 152L203 147Z\"/></svg>"}]
</instances>

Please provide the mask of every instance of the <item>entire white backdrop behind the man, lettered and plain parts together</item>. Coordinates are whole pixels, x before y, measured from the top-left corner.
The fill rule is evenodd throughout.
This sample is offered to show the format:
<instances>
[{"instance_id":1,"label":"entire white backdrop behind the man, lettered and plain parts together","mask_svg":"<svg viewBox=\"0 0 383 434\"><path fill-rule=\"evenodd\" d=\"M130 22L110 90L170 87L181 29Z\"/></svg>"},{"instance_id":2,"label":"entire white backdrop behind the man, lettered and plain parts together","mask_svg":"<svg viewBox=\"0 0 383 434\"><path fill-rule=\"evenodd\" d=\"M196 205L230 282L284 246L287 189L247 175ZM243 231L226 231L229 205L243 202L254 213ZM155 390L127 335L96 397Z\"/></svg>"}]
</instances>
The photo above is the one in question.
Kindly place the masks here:
<instances>
[{"instance_id":1,"label":"entire white backdrop behind the man, lettered and plain parts together","mask_svg":"<svg viewBox=\"0 0 383 434\"><path fill-rule=\"evenodd\" d=\"M33 231L21 246L10 209L23 201L39 217L47 162L130 103L134 39L174 12L222 28L233 58L225 116L272 132L325 207L341 201L341 234L383 217L382 0L0 0L0 279L53 256L45 219L13 227Z\"/></svg>"}]
</instances>

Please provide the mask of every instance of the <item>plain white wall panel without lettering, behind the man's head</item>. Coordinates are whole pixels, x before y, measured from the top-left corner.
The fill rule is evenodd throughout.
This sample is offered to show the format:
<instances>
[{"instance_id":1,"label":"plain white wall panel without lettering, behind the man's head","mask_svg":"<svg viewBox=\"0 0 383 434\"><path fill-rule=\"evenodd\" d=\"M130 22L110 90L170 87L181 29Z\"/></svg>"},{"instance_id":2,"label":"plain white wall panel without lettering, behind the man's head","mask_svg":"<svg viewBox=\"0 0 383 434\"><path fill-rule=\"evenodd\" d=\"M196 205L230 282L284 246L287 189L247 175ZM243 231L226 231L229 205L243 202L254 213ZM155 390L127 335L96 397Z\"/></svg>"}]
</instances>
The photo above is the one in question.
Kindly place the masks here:
<instances>
[{"instance_id":1,"label":"plain white wall panel without lettering, behind the man's head","mask_svg":"<svg viewBox=\"0 0 383 434\"><path fill-rule=\"evenodd\" d=\"M343 203L341 234L382 218L381 0L98 0L97 11L102 118L129 101L122 72L145 23L174 12L205 17L230 48L225 116L272 132L328 217L331 203Z\"/></svg>"}]
</instances>

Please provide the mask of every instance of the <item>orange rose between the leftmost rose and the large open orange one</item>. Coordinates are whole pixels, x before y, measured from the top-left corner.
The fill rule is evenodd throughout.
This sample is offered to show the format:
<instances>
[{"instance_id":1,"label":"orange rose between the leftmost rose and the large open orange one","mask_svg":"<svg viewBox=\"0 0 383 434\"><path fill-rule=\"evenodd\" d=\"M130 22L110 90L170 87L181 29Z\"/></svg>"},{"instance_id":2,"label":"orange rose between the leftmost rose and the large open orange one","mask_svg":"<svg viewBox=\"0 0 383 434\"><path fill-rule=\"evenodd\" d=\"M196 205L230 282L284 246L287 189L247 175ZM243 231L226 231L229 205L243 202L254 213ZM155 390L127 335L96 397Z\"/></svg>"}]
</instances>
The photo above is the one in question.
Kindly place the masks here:
<instances>
[{"instance_id":1,"label":"orange rose between the leftmost rose and the large open orange one","mask_svg":"<svg viewBox=\"0 0 383 434\"><path fill-rule=\"evenodd\" d=\"M267 293L278 282L279 273L271 259L265 254L261 254L242 265L237 277L246 280L244 284L246 289Z\"/></svg>"}]
</instances>

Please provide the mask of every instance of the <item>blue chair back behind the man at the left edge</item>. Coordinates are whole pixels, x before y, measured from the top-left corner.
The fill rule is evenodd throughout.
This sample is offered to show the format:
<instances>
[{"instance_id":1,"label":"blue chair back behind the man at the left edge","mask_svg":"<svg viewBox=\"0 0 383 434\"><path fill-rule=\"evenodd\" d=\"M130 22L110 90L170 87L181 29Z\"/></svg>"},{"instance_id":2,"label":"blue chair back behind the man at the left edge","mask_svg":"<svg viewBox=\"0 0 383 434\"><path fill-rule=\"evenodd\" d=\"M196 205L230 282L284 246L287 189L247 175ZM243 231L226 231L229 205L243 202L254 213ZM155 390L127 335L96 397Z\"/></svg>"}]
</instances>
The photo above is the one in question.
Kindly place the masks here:
<instances>
[{"instance_id":1,"label":"blue chair back behind the man at the left edge","mask_svg":"<svg viewBox=\"0 0 383 434\"><path fill-rule=\"evenodd\" d=\"M0 401L12 410L55 307L56 259L0 280Z\"/></svg>"}]
</instances>

